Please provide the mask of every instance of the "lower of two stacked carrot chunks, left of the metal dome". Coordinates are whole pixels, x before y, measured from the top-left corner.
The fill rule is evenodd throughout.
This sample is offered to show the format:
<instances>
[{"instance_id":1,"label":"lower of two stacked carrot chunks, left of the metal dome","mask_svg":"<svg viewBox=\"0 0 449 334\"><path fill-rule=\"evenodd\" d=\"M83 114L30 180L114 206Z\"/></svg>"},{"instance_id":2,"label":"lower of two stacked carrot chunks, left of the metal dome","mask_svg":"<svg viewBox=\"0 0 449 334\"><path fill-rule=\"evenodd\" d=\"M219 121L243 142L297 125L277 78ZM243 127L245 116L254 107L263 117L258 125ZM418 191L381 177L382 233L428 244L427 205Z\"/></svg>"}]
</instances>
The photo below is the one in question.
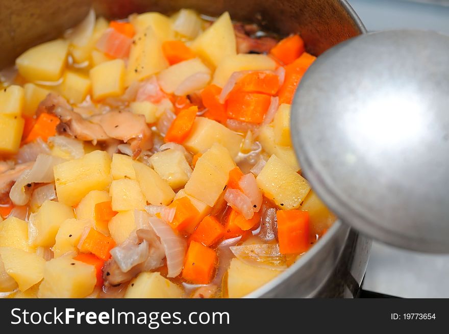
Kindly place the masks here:
<instances>
[{"instance_id":1,"label":"lower of two stacked carrot chunks, left of the metal dome","mask_svg":"<svg viewBox=\"0 0 449 334\"><path fill-rule=\"evenodd\" d=\"M228 117L243 122L262 123L271 104L271 96L233 89L227 100Z\"/></svg>"}]
</instances>

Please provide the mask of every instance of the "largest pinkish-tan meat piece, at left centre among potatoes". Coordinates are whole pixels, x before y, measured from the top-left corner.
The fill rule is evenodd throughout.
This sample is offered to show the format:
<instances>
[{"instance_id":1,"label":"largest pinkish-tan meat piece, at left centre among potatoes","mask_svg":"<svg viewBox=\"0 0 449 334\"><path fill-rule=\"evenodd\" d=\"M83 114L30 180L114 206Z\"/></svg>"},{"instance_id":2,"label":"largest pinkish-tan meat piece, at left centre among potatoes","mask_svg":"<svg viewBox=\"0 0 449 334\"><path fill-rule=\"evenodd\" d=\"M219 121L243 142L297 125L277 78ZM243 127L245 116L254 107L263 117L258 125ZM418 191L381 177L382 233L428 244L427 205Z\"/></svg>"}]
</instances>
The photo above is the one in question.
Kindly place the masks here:
<instances>
[{"instance_id":1,"label":"largest pinkish-tan meat piece, at left centre among potatoes","mask_svg":"<svg viewBox=\"0 0 449 334\"><path fill-rule=\"evenodd\" d=\"M146 125L143 115L113 110L103 115L93 116L91 121L101 124L108 137L129 143L134 159L137 159L142 151L153 147L151 129Z\"/></svg>"}]
</instances>

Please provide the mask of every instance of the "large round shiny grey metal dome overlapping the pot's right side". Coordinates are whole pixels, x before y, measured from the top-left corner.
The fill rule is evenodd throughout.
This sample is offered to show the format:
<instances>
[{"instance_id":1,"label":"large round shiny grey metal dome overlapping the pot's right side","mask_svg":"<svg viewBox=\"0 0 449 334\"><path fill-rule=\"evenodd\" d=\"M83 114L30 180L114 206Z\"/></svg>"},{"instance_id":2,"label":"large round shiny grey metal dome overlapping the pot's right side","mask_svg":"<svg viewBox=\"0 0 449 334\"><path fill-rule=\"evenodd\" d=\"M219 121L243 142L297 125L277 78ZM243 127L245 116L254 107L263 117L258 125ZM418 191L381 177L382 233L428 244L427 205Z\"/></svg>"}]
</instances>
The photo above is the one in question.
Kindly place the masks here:
<instances>
[{"instance_id":1,"label":"large round shiny grey metal dome overlapping the pot's right side","mask_svg":"<svg viewBox=\"0 0 449 334\"><path fill-rule=\"evenodd\" d=\"M449 37L363 35L321 55L293 104L312 187L346 223L396 246L449 252Z\"/></svg>"}]
</instances>

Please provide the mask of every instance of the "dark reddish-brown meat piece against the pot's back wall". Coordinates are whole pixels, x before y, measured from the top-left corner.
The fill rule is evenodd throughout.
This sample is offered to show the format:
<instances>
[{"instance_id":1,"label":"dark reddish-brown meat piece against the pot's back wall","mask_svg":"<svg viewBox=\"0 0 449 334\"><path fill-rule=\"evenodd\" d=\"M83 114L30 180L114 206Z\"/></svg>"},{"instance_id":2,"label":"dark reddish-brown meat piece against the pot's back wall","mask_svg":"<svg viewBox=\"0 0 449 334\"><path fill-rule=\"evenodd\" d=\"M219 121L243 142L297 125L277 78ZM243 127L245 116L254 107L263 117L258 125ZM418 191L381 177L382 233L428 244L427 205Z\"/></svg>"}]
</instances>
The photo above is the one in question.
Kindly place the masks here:
<instances>
[{"instance_id":1,"label":"dark reddish-brown meat piece against the pot's back wall","mask_svg":"<svg viewBox=\"0 0 449 334\"><path fill-rule=\"evenodd\" d=\"M237 52L239 54L258 53L267 54L278 43L272 37L253 37L258 32L254 24L234 24L235 37L237 41Z\"/></svg>"}]
</instances>

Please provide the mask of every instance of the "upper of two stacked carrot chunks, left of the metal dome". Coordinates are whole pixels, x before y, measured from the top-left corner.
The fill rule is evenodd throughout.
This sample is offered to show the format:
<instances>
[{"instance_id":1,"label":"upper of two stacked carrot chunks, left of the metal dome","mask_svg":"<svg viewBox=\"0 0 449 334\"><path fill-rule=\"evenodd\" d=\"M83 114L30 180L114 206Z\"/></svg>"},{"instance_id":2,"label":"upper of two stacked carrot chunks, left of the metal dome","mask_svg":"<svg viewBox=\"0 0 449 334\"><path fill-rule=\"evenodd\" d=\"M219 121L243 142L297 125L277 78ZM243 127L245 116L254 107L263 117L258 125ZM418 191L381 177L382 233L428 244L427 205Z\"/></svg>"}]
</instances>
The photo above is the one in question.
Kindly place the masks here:
<instances>
[{"instance_id":1,"label":"upper of two stacked carrot chunks, left of the metal dome","mask_svg":"<svg viewBox=\"0 0 449 334\"><path fill-rule=\"evenodd\" d=\"M236 87L247 93L275 95L279 90L279 76L262 71L251 72L243 76Z\"/></svg>"}]
</instances>

